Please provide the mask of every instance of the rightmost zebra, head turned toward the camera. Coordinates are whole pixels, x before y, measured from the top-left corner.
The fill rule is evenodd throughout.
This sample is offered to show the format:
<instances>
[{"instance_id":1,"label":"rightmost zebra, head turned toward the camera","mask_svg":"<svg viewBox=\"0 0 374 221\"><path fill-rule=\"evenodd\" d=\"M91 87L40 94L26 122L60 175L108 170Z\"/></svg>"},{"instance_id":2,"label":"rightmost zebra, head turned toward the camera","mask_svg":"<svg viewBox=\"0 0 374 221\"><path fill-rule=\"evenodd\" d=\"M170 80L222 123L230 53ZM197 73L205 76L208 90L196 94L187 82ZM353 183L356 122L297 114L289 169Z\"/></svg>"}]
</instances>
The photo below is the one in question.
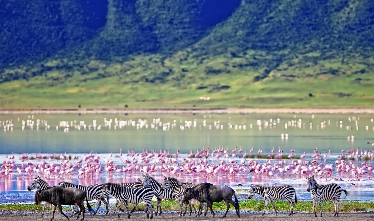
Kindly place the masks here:
<instances>
[{"instance_id":1,"label":"rightmost zebra, head turned toward the camera","mask_svg":"<svg viewBox=\"0 0 374 221\"><path fill-rule=\"evenodd\" d=\"M312 178L305 176L308 180L308 189L307 191L310 192L310 195L313 198L313 212L314 216L317 217L316 213L316 203L318 202L319 210L321 211L322 217L322 201L332 201L335 206L335 214L334 217L339 216L339 201L341 192L343 191L346 196L349 196L349 192L347 190L341 189L338 184L330 183L326 185L319 185L317 181L314 179L314 175Z\"/></svg>"}]
</instances>

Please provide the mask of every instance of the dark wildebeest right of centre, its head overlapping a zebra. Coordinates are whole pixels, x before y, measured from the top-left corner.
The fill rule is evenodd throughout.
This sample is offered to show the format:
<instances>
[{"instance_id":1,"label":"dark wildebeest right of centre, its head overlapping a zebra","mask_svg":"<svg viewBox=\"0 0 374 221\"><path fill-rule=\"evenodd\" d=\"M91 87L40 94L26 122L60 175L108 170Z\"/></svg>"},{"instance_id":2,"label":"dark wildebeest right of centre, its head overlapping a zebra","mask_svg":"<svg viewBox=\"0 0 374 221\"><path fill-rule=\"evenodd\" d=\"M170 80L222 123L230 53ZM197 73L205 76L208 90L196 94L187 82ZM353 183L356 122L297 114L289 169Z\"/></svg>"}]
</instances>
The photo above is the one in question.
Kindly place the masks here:
<instances>
[{"instance_id":1,"label":"dark wildebeest right of centre, its head overlapping a zebra","mask_svg":"<svg viewBox=\"0 0 374 221\"><path fill-rule=\"evenodd\" d=\"M235 202L232 200L233 195L235 197ZM213 202L221 202L224 200L226 203L226 213L223 215L223 217L226 217L227 211L230 209L229 203L235 207L236 214L238 217L240 217L239 202L237 201L235 191L231 187L216 186L211 183L201 183L192 188L186 187L185 191L183 192L183 196L186 203L192 203L193 200L199 200L201 202L199 205L199 212L197 212L197 214L200 214L202 203L206 202L214 217L215 213L212 209ZM204 216L206 216L206 212ZM197 215L195 217L197 217Z\"/></svg>"}]
</instances>

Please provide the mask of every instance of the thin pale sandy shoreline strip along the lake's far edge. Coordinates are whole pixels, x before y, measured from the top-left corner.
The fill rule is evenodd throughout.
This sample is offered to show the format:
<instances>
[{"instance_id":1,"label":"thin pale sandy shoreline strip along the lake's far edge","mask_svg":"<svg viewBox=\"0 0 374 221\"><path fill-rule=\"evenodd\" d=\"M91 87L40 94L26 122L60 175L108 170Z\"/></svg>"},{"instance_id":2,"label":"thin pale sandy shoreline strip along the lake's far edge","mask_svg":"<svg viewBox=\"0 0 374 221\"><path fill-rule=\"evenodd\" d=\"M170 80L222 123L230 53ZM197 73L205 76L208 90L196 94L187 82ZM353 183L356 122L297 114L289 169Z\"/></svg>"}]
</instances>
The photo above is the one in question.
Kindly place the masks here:
<instances>
[{"instance_id":1,"label":"thin pale sandy shoreline strip along the lake's far edge","mask_svg":"<svg viewBox=\"0 0 374 221\"><path fill-rule=\"evenodd\" d=\"M374 108L67 108L67 109L0 109L0 114L374 114Z\"/></svg>"}]
</instances>

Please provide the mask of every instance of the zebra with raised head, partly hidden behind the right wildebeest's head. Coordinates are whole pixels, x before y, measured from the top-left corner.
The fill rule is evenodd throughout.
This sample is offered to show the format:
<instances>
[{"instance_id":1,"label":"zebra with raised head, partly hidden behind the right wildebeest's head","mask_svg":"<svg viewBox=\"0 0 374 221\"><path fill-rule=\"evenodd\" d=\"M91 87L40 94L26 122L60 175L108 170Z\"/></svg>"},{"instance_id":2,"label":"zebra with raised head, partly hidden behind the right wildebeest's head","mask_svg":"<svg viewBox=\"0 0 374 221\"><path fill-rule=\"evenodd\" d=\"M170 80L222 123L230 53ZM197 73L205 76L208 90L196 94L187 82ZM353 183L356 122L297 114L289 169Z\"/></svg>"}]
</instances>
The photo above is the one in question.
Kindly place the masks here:
<instances>
[{"instance_id":1,"label":"zebra with raised head, partly hidden behind the right wildebeest's head","mask_svg":"<svg viewBox=\"0 0 374 221\"><path fill-rule=\"evenodd\" d=\"M165 177L165 176L164 176ZM182 216L182 206L183 206L183 202L184 202L184 197L183 197L183 191L185 191L186 189L186 186L192 186L194 184L192 183L181 183L180 181L178 181L176 178L174 177L165 177L163 183L162 183L162 186L161 186L161 190L164 192L165 190L171 190L175 196L175 199L178 200L178 203L179 203L179 216L181 217ZM205 205L205 204L204 204ZM205 205L206 206L206 205ZM195 207L193 206L194 210L195 210L195 214L196 214L196 209ZM207 207L205 207L207 208ZM187 211L187 203L185 203L185 207L184 207L184 214L186 214L186 211ZM192 210L191 210L191 206L190 206L190 215L192 213Z\"/></svg>"}]
</instances>

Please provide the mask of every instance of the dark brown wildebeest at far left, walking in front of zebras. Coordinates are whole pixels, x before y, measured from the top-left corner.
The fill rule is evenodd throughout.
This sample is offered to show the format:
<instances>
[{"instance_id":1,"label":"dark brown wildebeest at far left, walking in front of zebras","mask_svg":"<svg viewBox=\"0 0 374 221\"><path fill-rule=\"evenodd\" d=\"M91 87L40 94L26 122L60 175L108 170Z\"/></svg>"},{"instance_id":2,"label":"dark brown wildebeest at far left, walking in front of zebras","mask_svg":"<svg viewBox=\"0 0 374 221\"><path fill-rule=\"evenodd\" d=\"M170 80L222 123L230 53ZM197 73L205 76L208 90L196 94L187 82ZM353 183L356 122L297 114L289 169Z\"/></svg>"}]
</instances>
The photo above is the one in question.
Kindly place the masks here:
<instances>
[{"instance_id":1,"label":"dark brown wildebeest at far left, walking in front of zebras","mask_svg":"<svg viewBox=\"0 0 374 221\"><path fill-rule=\"evenodd\" d=\"M83 190L79 190L76 188L65 188L62 186L54 186L46 190L38 189L35 193L36 205L39 205L39 203L42 203L42 201L48 202L53 205L52 218L50 219L51 221L55 217L56 206L58 206L60 213L69 220L69 217L62 212L61 205L70 206L74 203L76 203L80 209L76 220L78 220L79 215L82 211L83 215L81 220L84 220L86 208L85 205L83 205L83 202L85 201L85 199L87 202L88 211L92 213L93 209L87 201L86 192L84 192Z\"/></svg>"}]
</instances>

